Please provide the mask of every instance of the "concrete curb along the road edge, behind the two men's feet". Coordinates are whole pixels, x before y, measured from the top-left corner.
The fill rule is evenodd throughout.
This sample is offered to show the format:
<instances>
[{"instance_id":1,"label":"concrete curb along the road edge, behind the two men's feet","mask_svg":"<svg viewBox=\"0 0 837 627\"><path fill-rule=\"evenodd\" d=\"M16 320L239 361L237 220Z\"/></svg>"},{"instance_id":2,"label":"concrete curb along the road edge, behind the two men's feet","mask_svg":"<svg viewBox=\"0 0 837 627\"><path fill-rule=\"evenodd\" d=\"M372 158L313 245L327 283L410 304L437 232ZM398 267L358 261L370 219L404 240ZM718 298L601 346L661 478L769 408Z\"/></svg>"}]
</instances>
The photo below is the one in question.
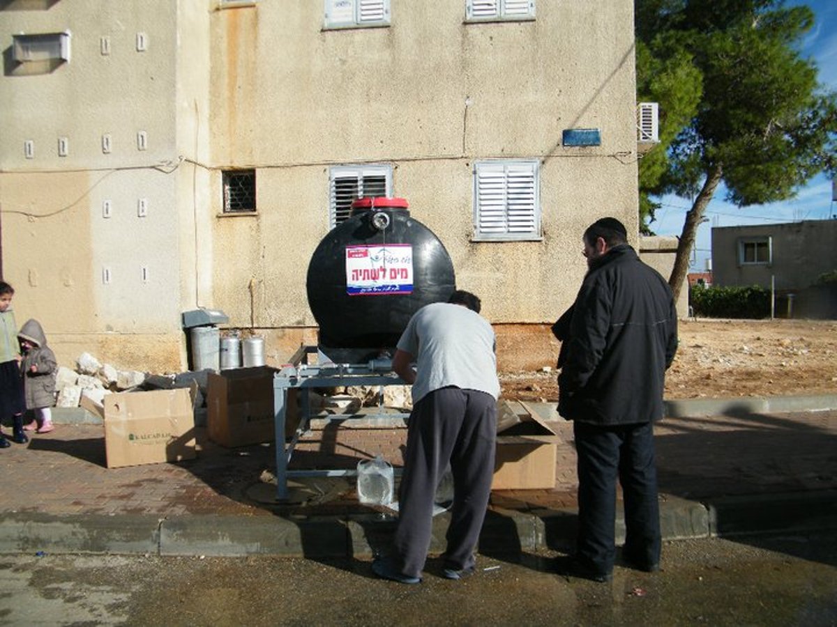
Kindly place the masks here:
<instances>
[{"instance_id":1,"label":"concrete curb along the road edge, behind the two men's feet","mask_svg":"<svg viewBox=\"0 0 837 627\"><path fill-rule=\"evenodd\" d=\"M444 551L448 523L448 512L434 517L431 553ZM480 553L567 551L577 523L573 509L492 509L480 534ZM726 497L706 504L664 495L660 526L664 541L837 528L837 491ZM380 514L291 520L271 515L159 518L12 512L0 514L0 553L351 558L385 550L394 527L393 517ZM616 535L617 543L624 542L621 513Z\"/></svg>"}]
</instances>

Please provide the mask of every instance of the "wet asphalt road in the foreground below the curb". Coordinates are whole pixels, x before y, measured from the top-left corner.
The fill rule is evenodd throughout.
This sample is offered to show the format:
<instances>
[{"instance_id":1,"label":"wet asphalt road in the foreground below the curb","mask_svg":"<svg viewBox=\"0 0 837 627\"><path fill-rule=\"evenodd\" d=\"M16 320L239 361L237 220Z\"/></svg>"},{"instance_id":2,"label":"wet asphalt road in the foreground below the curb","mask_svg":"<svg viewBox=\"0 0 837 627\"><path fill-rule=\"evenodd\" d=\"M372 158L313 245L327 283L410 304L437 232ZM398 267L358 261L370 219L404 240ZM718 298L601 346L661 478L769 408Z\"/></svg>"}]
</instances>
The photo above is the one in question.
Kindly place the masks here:
<instances>
[{"instance_id":1,"label":"wet asphalt road in the foreground below the curb","mask_svg":"<svg viewBox=\"0 0 837 627\"><path fill-rule=\"evenodd\" d=\"M555 554L459 582L430 560L414 586L367 559L0 555L0 624L837 624L837 531L667 543L662 572L611 584L549 573Z\"/></svg>"}]
</instances>

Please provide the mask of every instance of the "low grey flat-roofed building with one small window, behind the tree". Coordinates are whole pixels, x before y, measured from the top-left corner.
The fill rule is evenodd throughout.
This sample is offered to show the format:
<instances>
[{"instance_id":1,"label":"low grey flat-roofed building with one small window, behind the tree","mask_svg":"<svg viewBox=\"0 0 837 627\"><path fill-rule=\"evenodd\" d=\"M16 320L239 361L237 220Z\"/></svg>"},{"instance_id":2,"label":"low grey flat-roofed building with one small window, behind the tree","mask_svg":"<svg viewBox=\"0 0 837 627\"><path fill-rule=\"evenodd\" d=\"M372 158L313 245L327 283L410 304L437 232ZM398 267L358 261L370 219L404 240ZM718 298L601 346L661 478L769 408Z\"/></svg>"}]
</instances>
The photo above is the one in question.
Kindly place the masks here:
<instances>
[{"instance_id":1,"label":"low grey flat-roofed building with one small window, behind the tree","mask_svg":"<svg viewBox=\"0 0 837 627\"><path fill-rule=\"evenodd\" d=\"M777 314L835 317L837 285L820 278L837 270L837 220L712 228L717 286L774 289Z\"/></svg>"}]
</instances>

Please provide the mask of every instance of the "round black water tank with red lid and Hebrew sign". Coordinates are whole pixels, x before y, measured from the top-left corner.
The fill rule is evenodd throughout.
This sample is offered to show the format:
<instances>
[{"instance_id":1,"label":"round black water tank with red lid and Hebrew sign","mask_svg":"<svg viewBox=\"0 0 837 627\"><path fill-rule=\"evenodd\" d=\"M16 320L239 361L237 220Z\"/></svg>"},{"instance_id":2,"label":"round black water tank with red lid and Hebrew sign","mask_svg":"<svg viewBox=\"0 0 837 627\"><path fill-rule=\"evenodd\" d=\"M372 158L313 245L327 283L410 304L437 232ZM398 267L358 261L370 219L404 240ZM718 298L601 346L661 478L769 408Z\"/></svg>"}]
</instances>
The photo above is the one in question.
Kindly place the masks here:
<instances>
[{"instance_id":1,"label":"round black water tank with red lid and Hebrew sign","mask_svg":"<svg viewBox=\"0 0 837 627\"><path fill-rule=\"evenodd\" d=\"M448 252L407 206L403 198L359 198L352 217L316 247L306 288L326 355L369 349L360 360L393 349L419 308L454 291Z\"/></svg>"}]
</instances>

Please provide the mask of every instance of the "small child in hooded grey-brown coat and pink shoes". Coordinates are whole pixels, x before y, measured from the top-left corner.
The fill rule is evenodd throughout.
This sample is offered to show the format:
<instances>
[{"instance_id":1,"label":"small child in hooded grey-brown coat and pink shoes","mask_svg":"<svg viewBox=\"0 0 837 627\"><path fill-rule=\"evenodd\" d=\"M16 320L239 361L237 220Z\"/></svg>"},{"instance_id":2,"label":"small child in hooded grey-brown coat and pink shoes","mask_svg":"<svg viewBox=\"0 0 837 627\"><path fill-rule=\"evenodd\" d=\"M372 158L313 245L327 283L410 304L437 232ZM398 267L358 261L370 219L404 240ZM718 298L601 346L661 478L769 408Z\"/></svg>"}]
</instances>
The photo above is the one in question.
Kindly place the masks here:
<instances>
[{"instance_id":1,"label":"small child in hooded grey-brown coat and pink shoes","mask_svg":"<svg viewBox=\"0 0 837 627\"><path fill-rule=\"evenodd\" d=\"M47 346L44 329L38 320L27 320L18 333L18 340L23 352L20 370L23 373L26 409L34 410L36 423L23 428L49 433L54 429L52 407L55 405L55 371L58 370L58 362L52 349Z\"/></svg>"}]
</instances>

